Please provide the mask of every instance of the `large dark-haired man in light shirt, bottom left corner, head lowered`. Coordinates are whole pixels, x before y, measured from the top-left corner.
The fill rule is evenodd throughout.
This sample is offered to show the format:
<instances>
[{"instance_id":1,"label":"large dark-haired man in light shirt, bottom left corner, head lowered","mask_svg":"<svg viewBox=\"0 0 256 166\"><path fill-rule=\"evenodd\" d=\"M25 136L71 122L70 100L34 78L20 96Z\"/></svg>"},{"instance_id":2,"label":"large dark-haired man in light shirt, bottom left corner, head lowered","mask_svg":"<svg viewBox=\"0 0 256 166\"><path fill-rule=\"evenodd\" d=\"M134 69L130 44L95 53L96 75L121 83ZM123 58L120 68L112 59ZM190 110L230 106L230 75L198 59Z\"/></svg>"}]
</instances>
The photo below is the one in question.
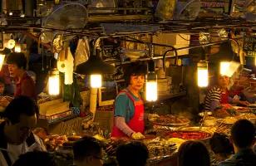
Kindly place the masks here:
<instances>
[{"instance_id":1,"label":"large dark-haired man in light shirt, bottom left corner, head lowered","mask_svg":"<svg viewBox=\"0 0 256 166\"><path fill-rule=\"evenodd\" d=\"M32 134L37 124L38 107L27 96L12 100L2 113L0 124L0 165L12 165L20 154L29 151L45 151L41 139Z\"/></svg>"}]
</instances>

